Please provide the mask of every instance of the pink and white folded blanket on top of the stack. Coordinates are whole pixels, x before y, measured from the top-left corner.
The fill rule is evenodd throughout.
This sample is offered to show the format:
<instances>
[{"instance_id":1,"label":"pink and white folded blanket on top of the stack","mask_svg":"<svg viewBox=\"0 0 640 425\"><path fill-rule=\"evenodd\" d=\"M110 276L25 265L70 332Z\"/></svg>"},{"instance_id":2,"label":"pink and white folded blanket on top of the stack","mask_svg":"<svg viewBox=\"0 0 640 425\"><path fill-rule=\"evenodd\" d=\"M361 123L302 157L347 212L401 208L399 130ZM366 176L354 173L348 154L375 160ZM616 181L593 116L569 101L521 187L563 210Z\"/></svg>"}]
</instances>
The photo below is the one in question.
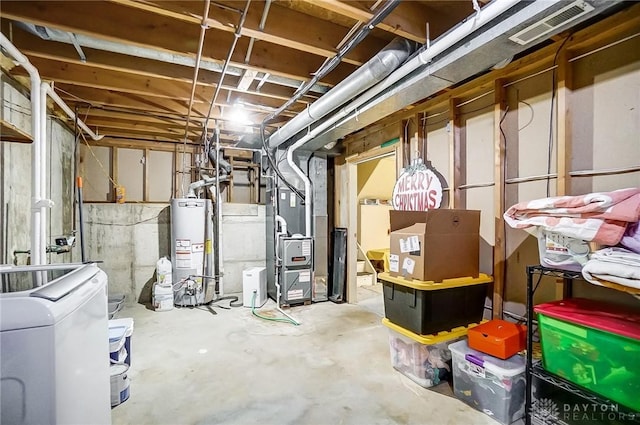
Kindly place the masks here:
<instances>
[{"instance_id":1,"label":"pink and white folded blanket on top of the stack","mask_svg":"<svg viewBox=\"0 0 640 425\"><path fill-rule=\"evenodd\" d=\"M620 242L627 225L640 220L640 189L521 202L504 213L513 228L540 229L603 245Z\"/></svg>"}]
</instances>

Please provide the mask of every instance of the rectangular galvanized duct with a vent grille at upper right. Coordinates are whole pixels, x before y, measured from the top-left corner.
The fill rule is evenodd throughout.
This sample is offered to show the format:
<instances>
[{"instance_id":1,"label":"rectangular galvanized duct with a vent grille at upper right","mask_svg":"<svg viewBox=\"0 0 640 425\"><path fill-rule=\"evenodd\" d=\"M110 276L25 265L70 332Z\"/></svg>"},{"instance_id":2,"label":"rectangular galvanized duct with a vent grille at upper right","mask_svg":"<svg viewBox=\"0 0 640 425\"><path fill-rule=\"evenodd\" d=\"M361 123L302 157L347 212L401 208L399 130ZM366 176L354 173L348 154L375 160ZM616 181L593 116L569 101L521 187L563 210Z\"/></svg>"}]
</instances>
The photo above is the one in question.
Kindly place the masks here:
<instances>
[{"instance_id":1,"label":"rectangular galvanized duct with a vent grille at upper right","mask_svg":"<svg viewBox=\"0 0 640 425\"><path fill-rule=\"evenodd\" d=\"M560 21L544 36L527 44L513 41L510 37L538 26L548 17L566 16L567 8L581 3L589 7L587 12L575 19ZM297 142L305 139L301 150L316 151L331 142L338 141L378 120L395 113L408 105L434 95L479 72L490 69L504 59L508 59L539 44L549 37L566 31L595 15L620 6L619 0L576 1L494 1L482 8L478 15L469 17L456 28L443 34L424 47L419 54L387 77L383 82L345 104L335 114L310 125L304 135L297 135ZM500 19L495 19L499 11ZM482 26L483 23L488 25ZM481 27L482 26L482 27ZM465 37L453 43L441 43L464 28L470 29ZM441 44L440 44L441 43ZM445 44L445 49L434 49ZM444 47L444 46L443 46ZM358 119L353 118L357 115ZM346 125L348 122L348 125Z\"/></svg>"}]
</instances>

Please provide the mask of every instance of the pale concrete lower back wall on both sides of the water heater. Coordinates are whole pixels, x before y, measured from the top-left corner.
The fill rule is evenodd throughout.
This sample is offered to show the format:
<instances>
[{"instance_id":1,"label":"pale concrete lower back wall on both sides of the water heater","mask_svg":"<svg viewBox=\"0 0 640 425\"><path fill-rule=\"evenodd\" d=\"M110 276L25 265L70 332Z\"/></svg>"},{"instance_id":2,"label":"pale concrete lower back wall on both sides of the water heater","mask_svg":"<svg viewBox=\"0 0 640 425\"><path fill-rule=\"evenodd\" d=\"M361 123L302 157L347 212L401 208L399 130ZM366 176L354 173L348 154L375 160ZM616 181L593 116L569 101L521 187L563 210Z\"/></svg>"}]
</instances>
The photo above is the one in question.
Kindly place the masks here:
<instances>
[{"instance_id":1,"label":"pale concrete lower back wall on both sides of the water heater","mask_svg":"<svg viewBox=\"0 0 640 425\"><path fill-rule=\"evenodd\" d=\"M171 257L168 204L89 203L84 207L87 259L102 261L109 293L149 303L156 262ZM223 291L242 291L242 270L265 265L264 205L223 204Z\"/></svg>"}]
</instances>

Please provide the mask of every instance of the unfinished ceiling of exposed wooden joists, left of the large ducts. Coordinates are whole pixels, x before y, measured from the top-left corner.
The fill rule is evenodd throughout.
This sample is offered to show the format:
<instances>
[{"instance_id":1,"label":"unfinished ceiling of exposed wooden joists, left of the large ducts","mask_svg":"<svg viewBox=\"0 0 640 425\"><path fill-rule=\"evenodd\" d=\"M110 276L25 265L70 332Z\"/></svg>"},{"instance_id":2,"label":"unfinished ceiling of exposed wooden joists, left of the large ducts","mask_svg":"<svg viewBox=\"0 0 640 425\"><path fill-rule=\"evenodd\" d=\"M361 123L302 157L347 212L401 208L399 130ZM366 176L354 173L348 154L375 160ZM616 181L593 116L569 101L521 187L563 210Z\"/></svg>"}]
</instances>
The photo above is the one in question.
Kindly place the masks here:
<instances>
[{"instance_id":1,"label":"unfinished ceiling of exposed wooden joists, left of the large ducts","mask_svg":"<svg viewBox=\"0 0 640 425\"><path fill-rule=\"evenodd\" d=\"M209 129L216 123L221 128L222 142L234 143L256 131L231 121L234 105L242 104L250 121L259 124L384 5L334 0L7 1L0 13L2 32L99 134L182 143L193 97L188 139L198 143L208 121ZM304 110L394 37L424 44L427 23L434 39L473 12L471 0L399 2L335 69L271 122L271 129ZM21 67L10 72L26 75Z\"/></svg>"}]
</instances>

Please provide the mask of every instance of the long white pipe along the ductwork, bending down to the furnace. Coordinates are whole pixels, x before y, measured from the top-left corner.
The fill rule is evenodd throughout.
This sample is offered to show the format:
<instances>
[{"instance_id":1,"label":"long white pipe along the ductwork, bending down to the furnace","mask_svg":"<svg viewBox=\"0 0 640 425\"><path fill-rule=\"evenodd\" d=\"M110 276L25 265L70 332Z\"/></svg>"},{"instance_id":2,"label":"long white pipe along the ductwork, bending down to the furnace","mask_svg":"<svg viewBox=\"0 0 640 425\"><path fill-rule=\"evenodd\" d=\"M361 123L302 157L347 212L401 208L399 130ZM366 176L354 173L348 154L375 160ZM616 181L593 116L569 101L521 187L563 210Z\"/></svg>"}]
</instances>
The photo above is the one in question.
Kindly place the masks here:
<instances>
[{"instance_id":1,"label":"long white pipe along the ductwork, bending down to the furnace","mask_svg":"<svg viewBox=\"0 0 640 425\"><path fill-rule=\"evenodd\" d=\"M313 130L308 132L305 136L300 138L293 145L291 145L291 147L289 147L289 149L287 150L287 163L289 164L291 169L304 181L306 236L311 236L311 181L300 169L300 167L298 167L293 161L293 152L303 146L309 140L313 139L314 137L318 136L320 133L331 127L340 118L348 115L352 110L357 109L360 105L363 105L370 99L378 96L382 91L386 90L391 85L404 78L411 72L415 71L416 69L420 68L421 66L429 63L429 61L435 56L444 52L446 49L450 48L451 46L462 40L464 37L471 34L480 26L493 20L519 2L520 0L501 0L489 3L484 7L484 9L481 10L479 15L476 15L475 19L469 19L459 27L454 28L451 32L444 35L442 38L438 39L436 42L432 43L428 49L422 50L418 55L414 56L413 59L411 59L405 65L401 66L396 72L389 75L385 80L376 85L372 90L359 97L355 102L347 105L347 107L342 108L340 112L331 116L327 121L323 122Z\"/></svg>"}]
</instances>

